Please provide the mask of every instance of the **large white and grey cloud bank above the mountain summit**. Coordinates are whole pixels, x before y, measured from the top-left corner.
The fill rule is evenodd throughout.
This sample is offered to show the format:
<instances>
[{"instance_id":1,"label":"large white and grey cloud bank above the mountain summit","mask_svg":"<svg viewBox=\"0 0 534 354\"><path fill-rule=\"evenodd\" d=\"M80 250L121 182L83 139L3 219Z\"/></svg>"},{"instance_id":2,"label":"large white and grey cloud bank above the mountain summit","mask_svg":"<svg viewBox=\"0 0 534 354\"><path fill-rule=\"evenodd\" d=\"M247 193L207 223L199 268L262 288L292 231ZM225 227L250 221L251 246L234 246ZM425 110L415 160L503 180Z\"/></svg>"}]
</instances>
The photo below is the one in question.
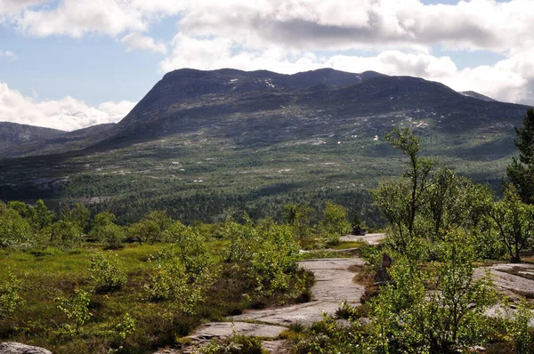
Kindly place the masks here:
<instances>
[{"instance_id":1,"label":"large white and grey cloud bank above the mountain summit","mask_svg":"<svg viewBox=\"0 0 534 354\"><path fill-rule=\"evenodd\" d=\"M534 103L534 1L459 0L0 0L31 36L114 36L127 50L167 53L159 68L271 69L293 73L331 67L422 76L456 90ZM1 6L0 6L1 7ZM150 25L176 16L167 45ZM490 51L506 59L457 68L445 51ZM368 56L346 54L372 50ZM321 56L320 52L340 52ZM454 56L453 56L454 57Z\"/></svg>"}]
</instances>

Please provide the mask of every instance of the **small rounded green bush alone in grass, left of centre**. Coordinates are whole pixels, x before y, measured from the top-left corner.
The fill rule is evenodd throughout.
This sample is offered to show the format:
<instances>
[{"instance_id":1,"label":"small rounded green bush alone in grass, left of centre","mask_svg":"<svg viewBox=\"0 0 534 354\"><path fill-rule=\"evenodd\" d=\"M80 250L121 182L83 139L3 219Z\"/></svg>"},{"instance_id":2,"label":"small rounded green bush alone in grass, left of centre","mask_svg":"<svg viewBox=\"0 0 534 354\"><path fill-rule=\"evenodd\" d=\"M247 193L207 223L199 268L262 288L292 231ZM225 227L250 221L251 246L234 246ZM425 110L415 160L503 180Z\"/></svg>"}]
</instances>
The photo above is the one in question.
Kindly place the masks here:
<instances>
[{"instance_id":1,"label":"small rounded green bush alone in grass, left of centre","mask_svg":"<svg viewBox=\"0 0 534 354\"><path fill-rule=\"evenodd\" d=\"M117 258L117 255L116 255ZM100 294L112 293L125 285L128 279L123 270L118 268L117 259L109 260L109 254L97 253L89 265L94 291Z\"/></svg>"}]
</instances>

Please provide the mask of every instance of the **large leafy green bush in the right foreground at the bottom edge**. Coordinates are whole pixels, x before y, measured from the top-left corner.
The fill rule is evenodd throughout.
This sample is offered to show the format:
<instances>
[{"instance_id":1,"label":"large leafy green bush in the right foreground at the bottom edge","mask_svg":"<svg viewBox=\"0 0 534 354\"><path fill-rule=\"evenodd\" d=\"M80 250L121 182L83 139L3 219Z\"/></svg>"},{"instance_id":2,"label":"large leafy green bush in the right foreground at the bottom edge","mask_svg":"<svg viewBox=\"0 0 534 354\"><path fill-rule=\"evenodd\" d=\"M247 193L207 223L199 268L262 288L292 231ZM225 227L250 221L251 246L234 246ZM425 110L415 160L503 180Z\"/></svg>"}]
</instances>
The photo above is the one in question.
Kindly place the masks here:
<instances>
[{"instance_id":1,"label":"large leafy green bush in the right foreground at the bottom edge","mask_svg":"<svg viewBox=\"0 0 534 354\"><path fill-rule=\"evenodd\" d=\"M414 243L409 258L394 257L390 274L374 300L379 347L385 352L450 352L481 343L484 311L494 302L489 275L473 279L475 253L465 234L451 230L441 244L441 260L423 267Z\"/></svg>"}]
</instances>

